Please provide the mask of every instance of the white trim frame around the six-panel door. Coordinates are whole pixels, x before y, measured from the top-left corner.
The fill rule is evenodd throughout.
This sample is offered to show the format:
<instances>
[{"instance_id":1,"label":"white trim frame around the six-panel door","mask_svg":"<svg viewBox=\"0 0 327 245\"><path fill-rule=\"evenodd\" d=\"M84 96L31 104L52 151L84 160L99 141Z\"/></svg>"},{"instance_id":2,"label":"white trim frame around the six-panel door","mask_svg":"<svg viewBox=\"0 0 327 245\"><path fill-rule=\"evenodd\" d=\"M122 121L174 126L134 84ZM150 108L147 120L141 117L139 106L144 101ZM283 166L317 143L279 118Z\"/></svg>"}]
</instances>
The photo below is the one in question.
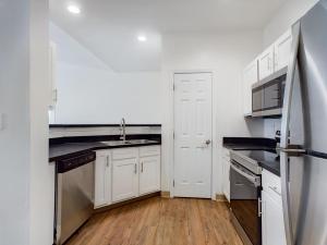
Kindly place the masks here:
<instances>
[{"instance_id":1,"label":"white trim frame around the six-panel door","mask_svg":"<svg viewBox=\"0 0 327 245\"><path fill-rule=\"evenodd\" d=\"M174 137L173 137L173 132L174 132L174 75L175 74L196 74L196 73L210 73L211 74L211 186L210 186L210 192L211 192L211 199L216 200L216 188L215 188L215 181L214 181L214 159L215 159L215 146L216 144L216 127L214 125L216 125L216 96L214 94L215 89L215 83L214 83L214 71L213 70L175 70L172 71L171 75L171 96L172 96L172 110L171 110L171 125L172 125L172 132L171 132L171 137L169 137L169 145L172 145L172 159L171 159L171 163L170 163L170 184L169 184L169 191L170 191L170 197L173 198L174 197L174 186L173 186L173 181L174 181Z\"/></svg>"}]
</instances>

